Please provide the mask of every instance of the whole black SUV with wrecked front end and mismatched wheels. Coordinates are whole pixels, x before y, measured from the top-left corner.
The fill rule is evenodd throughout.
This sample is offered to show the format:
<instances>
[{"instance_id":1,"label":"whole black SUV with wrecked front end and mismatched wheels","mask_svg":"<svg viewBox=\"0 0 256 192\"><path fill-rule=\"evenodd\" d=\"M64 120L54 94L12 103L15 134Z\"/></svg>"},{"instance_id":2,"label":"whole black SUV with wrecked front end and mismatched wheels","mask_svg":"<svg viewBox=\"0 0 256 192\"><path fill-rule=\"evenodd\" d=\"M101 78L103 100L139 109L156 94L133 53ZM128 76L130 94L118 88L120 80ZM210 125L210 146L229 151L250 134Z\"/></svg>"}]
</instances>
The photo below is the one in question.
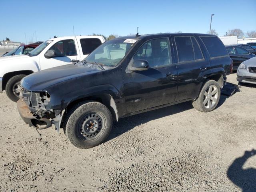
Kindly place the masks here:
<instances>
[{"instance_id":1,"label":"whole black SUV with wrecked front end and mismatched wheels","mask_svg":"<svg viewBox=\"0 0 256 192\"><path fill-rule=\"evenodd\" d=\"M102 143L112 120L192 101L210 112L232 72L217 36L150 34L109 40L85 60L22 79L17 102L23 120L38 129L64 128L78 148Z\"/></svg>"}]
</instances>

